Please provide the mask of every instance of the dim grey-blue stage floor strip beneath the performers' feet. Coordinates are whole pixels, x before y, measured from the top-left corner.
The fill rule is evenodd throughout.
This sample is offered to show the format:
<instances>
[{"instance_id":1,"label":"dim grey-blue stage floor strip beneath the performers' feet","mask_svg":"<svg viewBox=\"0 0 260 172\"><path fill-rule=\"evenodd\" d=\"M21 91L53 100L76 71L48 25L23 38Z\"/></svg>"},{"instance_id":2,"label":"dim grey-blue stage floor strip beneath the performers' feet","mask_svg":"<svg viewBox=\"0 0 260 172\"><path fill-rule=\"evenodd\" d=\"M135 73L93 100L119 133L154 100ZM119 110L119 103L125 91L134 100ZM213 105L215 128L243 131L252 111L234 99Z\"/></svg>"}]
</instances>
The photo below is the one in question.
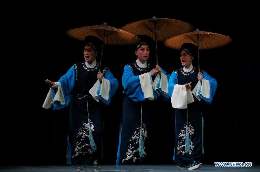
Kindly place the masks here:
<instances>
[{"instance_id":1,"label":"dim grey-blue stage floor strip beneath the performers' feet","mask_svg":"<svg viewBox=\"0 0 260 172\"><path fill-rule=\"evenodd\" d=\"M88 171L94 171L94 166L87 166ZM115 165L103 165L102 171L123 171L123 172L146 172L146 171L181 171L177 165L124 165L119 168ZM5 166L0 167L0 171L4 172L76 172L77 166ZM186 170L188 171L188 170ZM259 171L260 165L252 165L252 167L215 167L214 165L203 164L202 167L196 171Z\"/></svg>"}]
</instances>

